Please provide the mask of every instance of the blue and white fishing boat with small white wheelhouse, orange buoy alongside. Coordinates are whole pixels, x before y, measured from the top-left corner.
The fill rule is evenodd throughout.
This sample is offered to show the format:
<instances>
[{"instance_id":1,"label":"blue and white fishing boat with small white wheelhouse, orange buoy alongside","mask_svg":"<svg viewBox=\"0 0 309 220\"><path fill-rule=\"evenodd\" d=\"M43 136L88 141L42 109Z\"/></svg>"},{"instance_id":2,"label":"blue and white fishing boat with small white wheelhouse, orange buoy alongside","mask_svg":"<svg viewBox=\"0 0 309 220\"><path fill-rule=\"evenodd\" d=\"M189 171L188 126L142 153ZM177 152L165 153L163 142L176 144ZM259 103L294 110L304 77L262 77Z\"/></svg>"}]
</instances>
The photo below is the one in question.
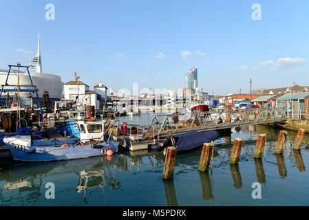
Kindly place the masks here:
<instances>
[{"instance_id":1,"label":"blue and white fishing boat with small white wheelhouse, orange buoy alongside","mask_svg":"<svg viewBox=\"0 0 309 220\"><path fill-rule=\"evenodd\" d=\"M67 159L82 159L107 155L109 150L118 152L118 142L106 131L103 122L77 122L81 136L77 138L54 138L33 140L32 135L4 137L3 142L10 148L17 161L50 162Z\"/></svg>"}]
</instances>

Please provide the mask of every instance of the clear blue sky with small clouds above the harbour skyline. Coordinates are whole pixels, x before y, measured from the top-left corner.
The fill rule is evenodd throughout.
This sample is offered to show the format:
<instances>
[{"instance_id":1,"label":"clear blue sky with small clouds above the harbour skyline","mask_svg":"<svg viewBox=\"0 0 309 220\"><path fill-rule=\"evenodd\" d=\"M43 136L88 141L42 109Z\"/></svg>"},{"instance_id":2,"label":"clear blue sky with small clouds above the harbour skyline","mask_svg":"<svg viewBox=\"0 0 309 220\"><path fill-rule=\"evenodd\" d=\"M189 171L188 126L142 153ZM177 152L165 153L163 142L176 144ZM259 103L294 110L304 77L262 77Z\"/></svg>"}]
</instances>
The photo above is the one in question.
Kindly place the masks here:
<instances>
[{"instance_id":1,"label":"clear blue sky with small clouds above the harbour skyline","mask_svg":"<svg viewBox=\"0 0 309 220\"><path fill-rule=\"evenodd\" d=\"M40 32L43 72L64 82L77 72L92 86L182 88L195 66L215 94L248 92L250 78L254 89L309 85L307 0L1 0L0 27L1 69L27 65Z\"/></svg>"}]
</instances>

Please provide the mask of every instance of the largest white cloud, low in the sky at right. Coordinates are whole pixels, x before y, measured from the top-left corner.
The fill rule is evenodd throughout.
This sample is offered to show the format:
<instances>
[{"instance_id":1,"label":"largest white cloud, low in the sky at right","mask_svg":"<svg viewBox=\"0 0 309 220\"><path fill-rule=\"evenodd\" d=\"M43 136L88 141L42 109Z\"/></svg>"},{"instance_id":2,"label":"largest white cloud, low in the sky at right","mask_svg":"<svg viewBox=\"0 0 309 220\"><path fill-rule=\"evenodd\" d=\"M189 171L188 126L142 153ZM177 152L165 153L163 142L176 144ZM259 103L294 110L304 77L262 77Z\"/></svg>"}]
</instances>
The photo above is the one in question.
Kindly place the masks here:
<instances>
[{"instance_id":1,"label":"largest white cloud, low in the sky at right","mask_svg":"<svg viewBox=\"0 0 309 220\"><path fill-rule=\"evenodd\" d=\"M259 63L259 67L262 68L272 68L272 69L283 69L286 67L303 65L306 61L303 58L299 57L283 57L277 59L277 61L263 61Z\"/></svg>"}]
</instances>

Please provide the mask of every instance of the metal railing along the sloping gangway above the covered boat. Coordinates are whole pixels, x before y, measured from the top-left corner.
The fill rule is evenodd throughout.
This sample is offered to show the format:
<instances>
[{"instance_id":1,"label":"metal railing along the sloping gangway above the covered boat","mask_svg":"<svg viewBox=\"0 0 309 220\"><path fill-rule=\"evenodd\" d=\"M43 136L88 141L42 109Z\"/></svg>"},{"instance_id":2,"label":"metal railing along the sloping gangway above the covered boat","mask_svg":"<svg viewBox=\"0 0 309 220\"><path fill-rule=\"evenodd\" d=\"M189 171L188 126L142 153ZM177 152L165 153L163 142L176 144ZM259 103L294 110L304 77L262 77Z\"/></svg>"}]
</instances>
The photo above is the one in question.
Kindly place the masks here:
<instances>
[{"instance_id":1,"label":"metal railing along the sloping gangway above the covered boat","mask_svg":"<svg viewBox=\"0 0 309 220\"><path fill-rule=\"evenodd\" d=\"M153 117L148 131L156 130L156 137L162 138L171 133L231 129L244 125L280 122L287 118L287 110L284 108L193 111L190 113L156 115Z\"/></svg>"}]
</instances>

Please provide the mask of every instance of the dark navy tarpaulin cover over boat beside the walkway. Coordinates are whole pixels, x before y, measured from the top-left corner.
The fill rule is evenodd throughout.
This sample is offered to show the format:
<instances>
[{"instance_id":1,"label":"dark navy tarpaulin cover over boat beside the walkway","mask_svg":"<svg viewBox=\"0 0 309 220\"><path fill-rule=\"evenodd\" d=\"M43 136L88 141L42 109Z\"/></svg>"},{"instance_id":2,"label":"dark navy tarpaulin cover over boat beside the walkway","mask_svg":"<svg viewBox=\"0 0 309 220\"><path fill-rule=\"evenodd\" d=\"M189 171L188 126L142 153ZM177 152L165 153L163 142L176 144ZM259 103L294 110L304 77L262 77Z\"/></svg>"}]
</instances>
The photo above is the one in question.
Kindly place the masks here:
<instances>
[{"instance_id":1,"label":"dark navy tarpaulin cover over boat beside the walkway","mask_svg":"<svg viewBox=\"0 0 309 220\"><path fill-rule=\"evenodd\" d=\"M175 139L175 144L177 146L177 151L189 151L194 148L203 146L204 143L210 143L219 137L217 131L208 131L208 132L198 132L198 131L189 131L180 135L173 135ZM172 146L171 137L164 142L164 145Z\"/></svg>"}]
</instances>

